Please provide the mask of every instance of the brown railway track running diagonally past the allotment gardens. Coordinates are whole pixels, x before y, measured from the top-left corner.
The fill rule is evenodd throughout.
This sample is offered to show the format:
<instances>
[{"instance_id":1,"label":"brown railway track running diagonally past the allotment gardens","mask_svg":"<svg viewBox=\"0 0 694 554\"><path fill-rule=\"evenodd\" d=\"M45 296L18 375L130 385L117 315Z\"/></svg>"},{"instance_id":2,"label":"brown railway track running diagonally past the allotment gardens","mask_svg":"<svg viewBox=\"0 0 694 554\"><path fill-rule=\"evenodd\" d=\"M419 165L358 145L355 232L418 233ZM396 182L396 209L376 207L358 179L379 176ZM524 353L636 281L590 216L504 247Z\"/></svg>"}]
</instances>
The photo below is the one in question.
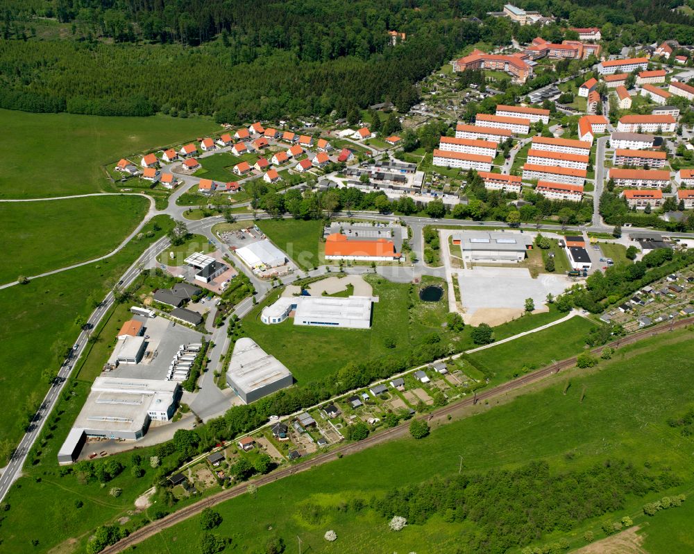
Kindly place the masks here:
<instances>
[{"instance_id":1,"label":"brown railway track running diagonally past the allotment gardens","mask_svg":"<svg viewBox=\"0 0 694 554\"><path fill-rule=\"evenodd\" d=\"M591 354L599 354L604 347L620 347L633 344L638 342L639 340L643 340L644 338L649 338L652 336L663 334L674 329L681 329L682 327L686 327L688 324L692 323L694 323L694 318L686 318L682 320L660 324L655 327L650 327L649 329L636 331L636 333L634 334L619 338L618 340L614 340L613 342L608 343L607 345L595 347L591 349L590 352ZM448 404L448 406L443 406L443 408L434 410L432 413L428 415L421 416L421 419L427 419L429 421L434 419L443 419L448 415L452 415L453 413L457 412L461 408L465 408L467 406L474 406L475 404L479 404L480 401L493 399L500 395L504 395L507 392L523 388L524 386L527 386L531 383L536 383L537 381L541 381L542 379L545 379L545 377L550 376L551 374L555 374L561 370L574 367L576 365L576 358L577 356L566 358L566 360L562 360L552 365L548 365L548 367L543 367L541 370L536 370L534 372L527 373L512 381L507 381L507 383L502 383L501 385L495 388L481 392L473 398L466 398L462 401ZM311 469L312 467L323 465L327 462L331 462L332 460L336 460L337 458L346 454L357 453L366 450L374 446L375 444L380 444L382 442L386 442L394 438L406 436L408 432L409 422L406 422L396 427L391 427L390 429L380 431L379 433L369 435L367 438L359 442L345 444L344 446L341 446L330 452L319 454L318 456L314 456L314 458L305 460L305 462L300 462L296 465L286 467L284 469L279 469L278 471L273 471L273 473L257 478L251 481L251 483L253 483L253 485L256 485L257 487L269 485L270 483L274 483L275 481L279 481L280 479L283 479L285 477L298 474L301 471L306 471L307 469ZM228 490L223 490L221 492L218 492L217 494L213 494L212 496L209 496L208 498L198 501L194 504L187 505L185 506L185 508L181 508L173 514L169 514L167 517L163 517L162 519L153 521L149 525L139 528L133 533L130 533L128 537L121 539L116 544L104 548L103 551L101 551L101 553L116 554L122 552L126 548L129 548L130 546L133 546L135 544L139 544L140 542L144 541L145 539L148 539L149 537L152 537L153 535L156 535L164 529L173 527L174 525L176 525L176 523L180 523L180 521L184 521L189 517L193 517L194 515L199 514L205 508L211 508L214 505L226 502L230 499L236 498L237 496L241 496L242 494L246 494L248 484L249 483L242 483L240 485L236 485L235 487L231 487Z\"/></svg>"}]
</instances>

